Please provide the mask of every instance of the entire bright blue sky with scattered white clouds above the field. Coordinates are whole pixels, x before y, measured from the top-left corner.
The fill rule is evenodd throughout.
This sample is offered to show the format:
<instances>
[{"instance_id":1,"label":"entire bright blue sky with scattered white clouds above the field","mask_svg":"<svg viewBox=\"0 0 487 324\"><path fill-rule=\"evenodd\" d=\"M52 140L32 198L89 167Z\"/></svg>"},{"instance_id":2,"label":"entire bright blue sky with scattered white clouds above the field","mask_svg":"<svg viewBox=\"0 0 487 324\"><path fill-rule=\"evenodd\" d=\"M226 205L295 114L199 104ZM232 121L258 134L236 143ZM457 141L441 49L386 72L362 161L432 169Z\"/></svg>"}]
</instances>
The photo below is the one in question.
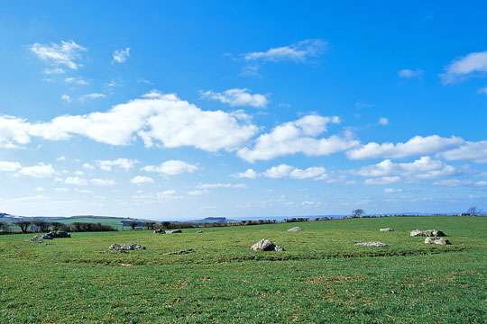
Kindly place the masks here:
<instances>
[{"instance_id":1,"label":"entire bright blue sky with scattered white clouds above the field","mask_svg":"<svg viewBox=\"0 0 487 324\"><path fill-rule=\"evenodd\" d=\"M2 3L2 211L486 208L486 21L482 2Z\"/></svg>"}]
</instances>

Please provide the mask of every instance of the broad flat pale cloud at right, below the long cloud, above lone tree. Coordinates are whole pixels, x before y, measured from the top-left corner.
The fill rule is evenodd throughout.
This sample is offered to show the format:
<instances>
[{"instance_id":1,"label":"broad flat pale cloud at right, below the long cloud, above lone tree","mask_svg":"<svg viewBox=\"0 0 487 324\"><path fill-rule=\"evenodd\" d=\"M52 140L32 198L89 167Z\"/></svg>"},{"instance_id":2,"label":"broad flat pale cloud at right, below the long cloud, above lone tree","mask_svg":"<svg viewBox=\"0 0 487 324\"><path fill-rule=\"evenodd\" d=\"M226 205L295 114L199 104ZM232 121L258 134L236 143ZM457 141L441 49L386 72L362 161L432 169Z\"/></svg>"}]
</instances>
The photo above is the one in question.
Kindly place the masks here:
<instances>
[{"instance_id":1,"label":"broad flat pale cloud at right, below the long cloud, above lone tree","mask_svg":"<svg viewBox=\"0 0 487 324\"><path fill-rule=\"evenodd\" d=\"M434 160L431 157L420 157L411 163L394 163L390 159L386 159L372 166L363 166L352 173L362 176L400 175L409 178L431 179L453 175L455 172L455 167L447 166L442 161Z\"/></svg>"}]
</instances>

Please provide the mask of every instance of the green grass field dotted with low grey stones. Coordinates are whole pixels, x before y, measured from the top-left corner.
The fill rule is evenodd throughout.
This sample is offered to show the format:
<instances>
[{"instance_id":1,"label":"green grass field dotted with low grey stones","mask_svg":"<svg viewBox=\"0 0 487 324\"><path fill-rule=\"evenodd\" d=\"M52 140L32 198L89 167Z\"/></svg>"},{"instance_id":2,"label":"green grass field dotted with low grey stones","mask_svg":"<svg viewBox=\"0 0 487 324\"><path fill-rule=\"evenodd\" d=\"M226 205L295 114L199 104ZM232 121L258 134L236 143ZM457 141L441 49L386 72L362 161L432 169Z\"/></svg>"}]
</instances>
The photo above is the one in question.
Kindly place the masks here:
<instances>
[{"instance_id":1,"label":"green grass field dotted with low grey stones","mask_svg":"<svg viewBox=\"0 0 487 324\"><path fill-rule=\"evenodd\" d=\"M452 245L426 245L412 229L444 230ZM485 217L197 230L72 233L52 245L0 236L0 323L487 322ZM261 238L286 251L251 251ZM354 247L371 240L389 247ZM113 243L147 249L96 253Z\"/></svg>"}]
</instances>

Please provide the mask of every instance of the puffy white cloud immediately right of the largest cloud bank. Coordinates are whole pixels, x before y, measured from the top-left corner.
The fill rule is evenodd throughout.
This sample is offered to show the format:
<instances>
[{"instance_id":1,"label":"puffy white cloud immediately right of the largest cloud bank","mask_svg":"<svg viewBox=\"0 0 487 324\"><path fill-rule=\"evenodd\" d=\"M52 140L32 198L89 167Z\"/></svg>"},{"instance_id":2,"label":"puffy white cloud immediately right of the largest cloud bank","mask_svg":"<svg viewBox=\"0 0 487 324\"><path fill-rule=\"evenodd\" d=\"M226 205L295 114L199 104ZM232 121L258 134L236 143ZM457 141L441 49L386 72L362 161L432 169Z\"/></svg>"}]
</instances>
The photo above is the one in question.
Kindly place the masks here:
<instances>
[{"instance_id":1,"label":"puffy white cloud immediately right of the largest cloud bank","mask_svg":"<svg viewBox=\"0 0 487 324\"><path fill-rule=\"evenodd\" d=\"M255 140L252 149L241 148L237 156L248 162L256 160L270 160L296 153L307 156L323 156L358 145L358 140L350 139L350 135L340 138L335 135L327 139L316 139L326 131L328 123L339 123L338 117L323 117L319 115L307 115L297 121L285 122L263 134Z\"/></svg>"}]
</instances>

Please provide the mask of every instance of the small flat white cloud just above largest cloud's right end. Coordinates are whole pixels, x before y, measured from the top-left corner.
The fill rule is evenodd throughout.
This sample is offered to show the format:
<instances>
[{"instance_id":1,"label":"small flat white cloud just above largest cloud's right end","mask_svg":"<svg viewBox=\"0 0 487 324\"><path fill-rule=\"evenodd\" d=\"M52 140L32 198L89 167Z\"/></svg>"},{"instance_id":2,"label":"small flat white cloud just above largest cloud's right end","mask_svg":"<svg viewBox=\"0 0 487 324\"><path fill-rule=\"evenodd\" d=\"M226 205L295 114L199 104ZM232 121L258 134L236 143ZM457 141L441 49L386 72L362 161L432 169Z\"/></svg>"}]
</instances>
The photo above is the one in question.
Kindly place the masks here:
<instances>
[{"instance_id":1,"label":"small flat white cloud just above largest cloud's right end","mask_svg":"<svg viewBox=\"0 0 487 324\"><path fill-rule=\"evenodd\" d=\"M249 89L229 89L221 93L216 93L211 90L201 92L202 98L218 100L222 103L228 103L231 106L251 106L256 108L265 107L269 100L266 94L250 94Z\"/></svg>"}]
</instances>

